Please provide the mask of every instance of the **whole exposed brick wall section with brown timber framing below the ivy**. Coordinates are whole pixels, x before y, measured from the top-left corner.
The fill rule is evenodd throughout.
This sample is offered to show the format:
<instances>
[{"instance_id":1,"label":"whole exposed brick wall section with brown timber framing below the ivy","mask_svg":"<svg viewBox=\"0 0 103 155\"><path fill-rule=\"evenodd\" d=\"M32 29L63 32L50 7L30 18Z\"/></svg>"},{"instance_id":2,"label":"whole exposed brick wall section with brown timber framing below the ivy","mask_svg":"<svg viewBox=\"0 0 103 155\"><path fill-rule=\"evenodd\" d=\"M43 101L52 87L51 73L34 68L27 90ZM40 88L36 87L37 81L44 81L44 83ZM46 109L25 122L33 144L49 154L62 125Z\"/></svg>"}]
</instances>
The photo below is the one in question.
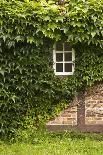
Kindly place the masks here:
<instances>
[{"instance_id":1,"label":"whole exposed brick wall section with brown timber framing below the ivy","mask_svg":"<svg viewBox=\"0 0 103 155\"><path fill-rule=\"evenodd\" d=\"M49 127L56 125L73 126L84 131L89 131L89 128L103 130L103 84L97 84L79 94L58 117L47 123Z\"/></svg>"}]
</instances>

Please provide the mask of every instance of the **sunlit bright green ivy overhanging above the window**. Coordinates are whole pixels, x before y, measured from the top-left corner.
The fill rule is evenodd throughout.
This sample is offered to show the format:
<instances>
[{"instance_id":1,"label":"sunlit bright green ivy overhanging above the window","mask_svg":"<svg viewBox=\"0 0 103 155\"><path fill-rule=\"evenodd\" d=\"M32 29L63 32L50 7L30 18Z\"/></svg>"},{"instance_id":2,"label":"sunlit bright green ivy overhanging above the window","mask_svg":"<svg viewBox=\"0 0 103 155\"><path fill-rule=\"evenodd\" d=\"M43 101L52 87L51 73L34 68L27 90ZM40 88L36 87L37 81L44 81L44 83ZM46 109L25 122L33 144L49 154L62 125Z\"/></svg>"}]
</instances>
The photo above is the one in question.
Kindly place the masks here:
<instances>
[{"instance_id":1,"label":"sunlit bright green ivy overhanging above the window","mask_svg":"<svg viewBox=\"0 0 103 155\"><path fill-rule=\"evenodd\" d=\"M42 43L44 37L103 46L103 1L1 0L0 38L8 46L21 41Z\"/></svg>"}]
</instances>

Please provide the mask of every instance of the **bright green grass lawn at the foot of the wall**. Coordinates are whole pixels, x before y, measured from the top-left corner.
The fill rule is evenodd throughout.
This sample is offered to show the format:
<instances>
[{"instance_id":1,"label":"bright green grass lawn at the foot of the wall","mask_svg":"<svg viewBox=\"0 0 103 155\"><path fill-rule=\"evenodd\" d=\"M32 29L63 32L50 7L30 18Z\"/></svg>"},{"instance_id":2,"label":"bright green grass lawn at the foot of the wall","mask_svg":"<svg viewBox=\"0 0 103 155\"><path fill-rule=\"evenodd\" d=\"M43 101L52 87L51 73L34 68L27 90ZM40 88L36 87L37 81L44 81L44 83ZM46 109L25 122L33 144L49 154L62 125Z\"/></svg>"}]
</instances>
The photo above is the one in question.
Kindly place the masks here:
<instances>
[{"instance_id":1,"label":"bright green grass lawn at the foot of the wall","mask_svg":"<svg viewBox=\"0 0 103 155\"><path fill-rule=\"evenodd\" d=\"M22 132L0 142L0 155L103 155L103 134Z\"/></svg>"}]
</instances>

